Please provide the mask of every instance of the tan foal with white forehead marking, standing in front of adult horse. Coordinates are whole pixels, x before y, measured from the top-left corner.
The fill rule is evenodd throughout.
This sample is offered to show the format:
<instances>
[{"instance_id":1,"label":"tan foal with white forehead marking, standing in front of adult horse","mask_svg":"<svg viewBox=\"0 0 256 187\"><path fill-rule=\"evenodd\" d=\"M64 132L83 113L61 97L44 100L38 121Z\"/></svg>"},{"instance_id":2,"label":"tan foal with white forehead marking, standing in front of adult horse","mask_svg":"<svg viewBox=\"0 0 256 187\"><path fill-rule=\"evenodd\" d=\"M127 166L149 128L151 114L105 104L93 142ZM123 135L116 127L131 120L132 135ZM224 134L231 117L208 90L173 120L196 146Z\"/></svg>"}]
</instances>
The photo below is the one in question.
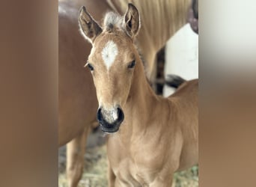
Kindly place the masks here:
<instances>
[{"instance_id":1,"label":"tan foal with white forehead marking, standing in front of adult horse","mask_svg":"<svg viewBox=\"0 0 256 187\"><path fill-rule=\"evenodd\" d=\"M109 186L171 186L198 162L198 80L168 98L156 96L135 46L138 10L108 13L103 28L82 7L79 26L92 43L86 64L96 87L97 120L108 140Z\"/></svg>"}]
</instances>

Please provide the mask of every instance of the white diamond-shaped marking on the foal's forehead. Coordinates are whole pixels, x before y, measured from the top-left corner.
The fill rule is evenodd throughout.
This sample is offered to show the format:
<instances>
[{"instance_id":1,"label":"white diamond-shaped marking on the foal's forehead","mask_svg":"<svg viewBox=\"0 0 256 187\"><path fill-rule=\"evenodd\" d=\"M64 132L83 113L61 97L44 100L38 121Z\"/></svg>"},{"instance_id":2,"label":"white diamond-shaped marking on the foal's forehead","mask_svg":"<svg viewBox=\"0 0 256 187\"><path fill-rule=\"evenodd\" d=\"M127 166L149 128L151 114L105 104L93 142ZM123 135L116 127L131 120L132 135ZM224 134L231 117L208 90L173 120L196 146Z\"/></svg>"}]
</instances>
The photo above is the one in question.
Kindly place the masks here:
<instances>
[{"instance_id":1,"label":"white diamond-shaped marking on the foal's forehead","mask_svg":"<svg viewBox=\"0 0 256 187\"><path fill-rule=\"evenodd\" d=\"M104 63L106 64L107 69L112 66L115 61L115 57L118 55L118 46L112 40L106 43L106 46L101 52Z\"/></svg>"}]
</instances>

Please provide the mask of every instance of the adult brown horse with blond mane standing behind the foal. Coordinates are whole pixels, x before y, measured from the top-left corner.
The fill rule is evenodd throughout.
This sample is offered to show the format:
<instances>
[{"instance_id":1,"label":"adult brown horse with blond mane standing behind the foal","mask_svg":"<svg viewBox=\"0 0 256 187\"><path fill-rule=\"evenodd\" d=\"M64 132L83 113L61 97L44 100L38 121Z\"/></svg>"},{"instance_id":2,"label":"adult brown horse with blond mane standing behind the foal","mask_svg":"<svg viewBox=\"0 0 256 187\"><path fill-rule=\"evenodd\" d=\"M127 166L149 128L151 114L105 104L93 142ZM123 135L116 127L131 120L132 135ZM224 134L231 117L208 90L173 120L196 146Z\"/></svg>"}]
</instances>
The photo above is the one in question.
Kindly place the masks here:
<instances>
[{"instance_id":1,"label":"adult brown horse with blond mane standing behind the foal","mask_svg":"<svg viewBox=\"0 0 256 187\"><path fill-rule=\"evenodd\" d=\"M83 168L83 155L88 132L96 120L98 103L87 68L82 68L91 45L79 34L77 13L85 5L100 22L105 13L115 10L124 14L128 0L59 1L59 145L67 144L67 176L76 186ZM186 23L190 0L132 1L141 12L138 46L146 62L147 78L153 76L156 53Z\"/></svg>"}]
</instances>

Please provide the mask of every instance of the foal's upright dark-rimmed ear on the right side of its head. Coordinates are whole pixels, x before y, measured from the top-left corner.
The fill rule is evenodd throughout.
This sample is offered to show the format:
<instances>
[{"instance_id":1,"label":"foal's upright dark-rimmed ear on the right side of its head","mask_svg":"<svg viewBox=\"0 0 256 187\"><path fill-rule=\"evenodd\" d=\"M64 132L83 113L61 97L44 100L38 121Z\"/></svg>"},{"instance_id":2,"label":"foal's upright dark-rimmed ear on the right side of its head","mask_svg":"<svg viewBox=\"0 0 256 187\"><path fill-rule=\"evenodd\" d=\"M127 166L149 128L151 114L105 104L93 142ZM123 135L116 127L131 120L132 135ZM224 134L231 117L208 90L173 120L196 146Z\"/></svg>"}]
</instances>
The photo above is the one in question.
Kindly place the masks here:
<instances>
[{"instance_id":1,"label":"foal's upright dark-rimmed ear on the right side of its head","mask_svg":"<svg viewBox=\"0 0 256 187\"><path fill-rule=\"evenodd\" d=\"M138 9L131 3L128 4L127 12L124 15L124 26L132 39L138 34L141 27L141 20Z\"/></svg>"}]
</instances>

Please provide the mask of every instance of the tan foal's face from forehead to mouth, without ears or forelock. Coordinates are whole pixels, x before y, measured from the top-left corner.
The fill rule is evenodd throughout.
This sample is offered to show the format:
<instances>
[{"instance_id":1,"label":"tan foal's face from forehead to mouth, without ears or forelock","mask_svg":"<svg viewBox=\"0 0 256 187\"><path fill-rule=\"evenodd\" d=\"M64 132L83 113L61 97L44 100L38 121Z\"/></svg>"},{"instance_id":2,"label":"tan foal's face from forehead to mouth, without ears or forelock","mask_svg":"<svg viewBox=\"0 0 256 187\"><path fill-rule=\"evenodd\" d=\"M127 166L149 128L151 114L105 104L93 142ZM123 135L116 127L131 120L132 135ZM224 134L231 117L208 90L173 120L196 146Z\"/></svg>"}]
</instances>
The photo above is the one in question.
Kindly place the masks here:
<instances>
[{"instance_id":1,"label":"tan foal's face from forehead to mouth, without ears or forelock","mask_svg":"<svg viewBox=\"0 0 256 187\"><path fill-rule=\"evenodd\" d=\"M106 132L115 132L122 120L135 69L135 46L124 32L103 32L94 42L88 67L94 79L99 110ZM113 127L113 129L107 129Z\"/></svg>"}]
</instances>

